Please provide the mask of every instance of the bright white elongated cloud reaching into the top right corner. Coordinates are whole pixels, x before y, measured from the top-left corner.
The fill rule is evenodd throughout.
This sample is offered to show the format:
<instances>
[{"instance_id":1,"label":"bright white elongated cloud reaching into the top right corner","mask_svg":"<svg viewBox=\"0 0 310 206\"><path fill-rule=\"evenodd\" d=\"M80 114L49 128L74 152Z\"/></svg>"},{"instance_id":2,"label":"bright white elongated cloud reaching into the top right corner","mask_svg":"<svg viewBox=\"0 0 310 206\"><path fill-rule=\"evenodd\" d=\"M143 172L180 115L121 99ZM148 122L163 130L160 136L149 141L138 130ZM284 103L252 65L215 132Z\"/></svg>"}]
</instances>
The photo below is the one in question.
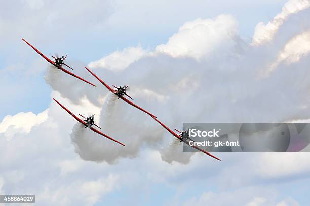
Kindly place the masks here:
<instances>
[{"instance_id":1,"label":"bright white elongated cloud reaching into the top right corner","mask_svg":"<svg viewBox=\"0 0 310 206\"><path fill-rule=\"evenodd\" d=\"M261 45L270 42L279 30L280 26L290 17L310 7L308 0L289 0L271 22L266 25L263 22L257 24L252 39L253 45Z\"/></svg>"}]
</instances>

